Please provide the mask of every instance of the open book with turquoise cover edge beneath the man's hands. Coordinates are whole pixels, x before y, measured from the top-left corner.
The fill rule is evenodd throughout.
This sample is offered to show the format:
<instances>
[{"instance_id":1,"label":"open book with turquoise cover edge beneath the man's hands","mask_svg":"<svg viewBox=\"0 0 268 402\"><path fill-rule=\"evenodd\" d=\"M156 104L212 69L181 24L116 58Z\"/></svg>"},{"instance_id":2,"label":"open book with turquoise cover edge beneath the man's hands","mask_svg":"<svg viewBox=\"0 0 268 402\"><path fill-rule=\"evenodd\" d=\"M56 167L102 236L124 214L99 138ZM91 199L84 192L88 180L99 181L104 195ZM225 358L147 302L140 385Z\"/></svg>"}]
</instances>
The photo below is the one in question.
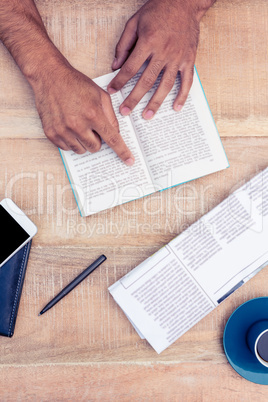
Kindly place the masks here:
<instances>
[{"instance_id":1,"label":"open book with turquoise cover edge beneath the man's hands","mask_svg":"<svg viewBox=\"0 0 268 402\"><path fill-rule=\"evenodd\" d=\"M94 81L106 90L115 74L110 73ZM125 166L105 143L95 154L86 152L77 155L73 151L60 151L82 216L229 166L196 72L182 111L172 109L180 85L178 76L173 90L152 120L144 120L141 114L160 77L130 116L119 114L120 104L140 75L141 72L121 91L112 95L121 135L135 157L133 166Z\"/></svg>"}]
</instances>

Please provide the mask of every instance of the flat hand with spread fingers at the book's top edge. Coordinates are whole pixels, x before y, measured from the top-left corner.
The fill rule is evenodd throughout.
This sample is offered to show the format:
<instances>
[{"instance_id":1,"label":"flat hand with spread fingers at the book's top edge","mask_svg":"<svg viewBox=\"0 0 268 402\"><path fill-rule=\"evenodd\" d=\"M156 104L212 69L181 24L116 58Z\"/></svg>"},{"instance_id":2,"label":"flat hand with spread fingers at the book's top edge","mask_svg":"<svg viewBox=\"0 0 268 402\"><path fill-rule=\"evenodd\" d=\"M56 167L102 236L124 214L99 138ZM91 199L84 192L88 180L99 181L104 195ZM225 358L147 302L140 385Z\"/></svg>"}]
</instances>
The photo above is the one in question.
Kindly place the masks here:
<instances>
[{"instance_id":1,"label":"flat hand with spread fingers at the book's top edge","mask_svg":"<svg viewBox=\"0 0 268 402\"><path fill-rule=\"evenodd\" d=\"M110 82L108 92L120 90L146 60L149 64L120 106L123 115L131 113L162 70L159 87L144 109L143 117L151 119L154 116L173 87L178 71L181 87L173 107L181 110L193 82L199 22L214 1L149 0L127 22L112 65L113 69L122 68Z\"/></svg>"}]
</instances>

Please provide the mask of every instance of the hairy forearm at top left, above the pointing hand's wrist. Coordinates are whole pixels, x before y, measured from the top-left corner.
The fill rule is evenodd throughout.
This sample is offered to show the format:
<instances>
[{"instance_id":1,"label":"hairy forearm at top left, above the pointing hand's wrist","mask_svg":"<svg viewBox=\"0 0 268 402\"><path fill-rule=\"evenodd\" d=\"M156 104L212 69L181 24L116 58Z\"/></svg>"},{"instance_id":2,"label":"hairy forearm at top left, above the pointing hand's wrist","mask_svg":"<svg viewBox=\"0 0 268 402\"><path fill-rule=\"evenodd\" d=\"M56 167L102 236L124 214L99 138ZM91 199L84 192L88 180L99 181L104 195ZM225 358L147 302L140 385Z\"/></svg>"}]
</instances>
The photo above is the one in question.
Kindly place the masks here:
<instances>
[{"instance_id":1,"label":"hairy forearm at top left, above the pointing hand's wrist","mask_svg":"<svg viewBox=\"0 0 268 402\"><path fill-rule=\"evenodd\" d=\"M41 78L41 66L66 62L49 39L33 0L0 0L0 40L30 83Z\"/></svg>"}]
</instances>

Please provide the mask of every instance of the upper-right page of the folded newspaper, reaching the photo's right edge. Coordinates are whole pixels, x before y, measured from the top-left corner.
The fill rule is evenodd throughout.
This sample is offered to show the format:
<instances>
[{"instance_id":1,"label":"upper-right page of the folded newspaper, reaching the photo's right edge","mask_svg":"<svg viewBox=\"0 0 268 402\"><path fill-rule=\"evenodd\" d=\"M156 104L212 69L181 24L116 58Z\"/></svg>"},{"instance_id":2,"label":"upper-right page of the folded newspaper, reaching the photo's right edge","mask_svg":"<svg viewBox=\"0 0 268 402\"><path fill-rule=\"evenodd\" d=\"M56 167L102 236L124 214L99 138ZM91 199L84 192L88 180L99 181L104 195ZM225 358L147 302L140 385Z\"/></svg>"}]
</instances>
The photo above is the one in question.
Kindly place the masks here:
<instances>
[{"instance_id":1,"label":"upper-right page of the folded newspaper, reaching the photo's right edge","mask_svg":"<svg viewBox=\"0 0 268 402\"><path fill-rule=\"evenodd\" d=\"M169 243L211 300L268 261L268 169Z\"/></svg>"}]
</instances>

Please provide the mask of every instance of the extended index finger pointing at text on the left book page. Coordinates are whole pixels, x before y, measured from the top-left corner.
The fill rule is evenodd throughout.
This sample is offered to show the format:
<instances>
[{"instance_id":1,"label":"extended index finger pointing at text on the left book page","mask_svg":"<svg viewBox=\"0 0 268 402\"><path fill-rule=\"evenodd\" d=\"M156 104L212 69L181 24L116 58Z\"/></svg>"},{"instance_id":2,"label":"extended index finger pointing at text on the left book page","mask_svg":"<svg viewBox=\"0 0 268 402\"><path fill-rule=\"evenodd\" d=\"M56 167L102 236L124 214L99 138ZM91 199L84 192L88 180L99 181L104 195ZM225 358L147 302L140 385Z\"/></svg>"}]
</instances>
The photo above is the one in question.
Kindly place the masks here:
<instances>
[{"instance_id":1,"label":"extended index finger pointing at text on the left book page","mask_svg":"<svg viewBox=\"0 0 268 402\"><path fill-rule=\"evenodd\" d=\"M98 120L94 126L94 130L126 165L132 166L134 164L134 156L126 146L119 130L116 129L107 118L104 118L102 121Z\"/></svg>"}]
</instances>

